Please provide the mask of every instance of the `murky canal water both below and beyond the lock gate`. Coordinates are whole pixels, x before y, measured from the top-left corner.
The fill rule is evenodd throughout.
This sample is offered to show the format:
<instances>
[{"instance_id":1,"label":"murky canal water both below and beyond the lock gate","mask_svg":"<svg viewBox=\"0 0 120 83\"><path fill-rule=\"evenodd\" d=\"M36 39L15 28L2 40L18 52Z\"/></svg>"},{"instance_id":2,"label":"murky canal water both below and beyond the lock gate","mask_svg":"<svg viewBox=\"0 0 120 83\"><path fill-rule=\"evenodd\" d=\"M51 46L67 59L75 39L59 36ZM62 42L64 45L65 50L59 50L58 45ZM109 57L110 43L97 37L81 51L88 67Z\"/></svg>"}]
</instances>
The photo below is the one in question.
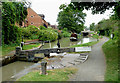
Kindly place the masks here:
<instances>
[{"instance_id":1,"label":"murky canal water both below and beyond the lock gate","mask_svg":"<svg viewBox=\"0 0 120 83\"><path fill-rule=\"evenodd\" d=\"M81 38L78 41L74 41L74 42L71 42L69 38L62 38L59 40L61 47L69 47L71 45L83 44L83 43L88 43L92 41L97 41L97 40L93 38ZM42 49L45 49L45 48L57 48L57 41L45 43ZM12 76L16 75L22 70L25 70L26 68L31 67L35 64L36 63L32 63L32 62L17 61L1 67L2 81L10 81L10 80L12 81L13 80Z\"/></svg>"}]
</instances>

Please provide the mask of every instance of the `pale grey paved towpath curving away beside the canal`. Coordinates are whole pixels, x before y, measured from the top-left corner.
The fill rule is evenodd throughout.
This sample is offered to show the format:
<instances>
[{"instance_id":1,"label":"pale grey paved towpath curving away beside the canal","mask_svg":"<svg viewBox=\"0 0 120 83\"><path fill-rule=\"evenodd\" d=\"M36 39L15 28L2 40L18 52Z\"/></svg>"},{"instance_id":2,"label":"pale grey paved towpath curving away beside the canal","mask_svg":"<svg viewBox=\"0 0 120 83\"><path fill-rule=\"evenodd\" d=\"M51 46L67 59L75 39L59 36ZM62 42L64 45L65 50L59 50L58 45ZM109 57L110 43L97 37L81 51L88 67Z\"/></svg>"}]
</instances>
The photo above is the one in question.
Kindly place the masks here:
<instances>
[{"instance_id":1,"label":"pale grey paved towpath curving away beside the canal","mask_svg":"<svg viewBox=\"0 0 120 83\"><path fill-rule=\"evenodd\" d=\"M108 40L107 37L103 37L92 46L88 60L83 64L76 65L78 72L70 78L70 81L104 81L106 60L102 45Z\"/></svg>"}]
</instances>

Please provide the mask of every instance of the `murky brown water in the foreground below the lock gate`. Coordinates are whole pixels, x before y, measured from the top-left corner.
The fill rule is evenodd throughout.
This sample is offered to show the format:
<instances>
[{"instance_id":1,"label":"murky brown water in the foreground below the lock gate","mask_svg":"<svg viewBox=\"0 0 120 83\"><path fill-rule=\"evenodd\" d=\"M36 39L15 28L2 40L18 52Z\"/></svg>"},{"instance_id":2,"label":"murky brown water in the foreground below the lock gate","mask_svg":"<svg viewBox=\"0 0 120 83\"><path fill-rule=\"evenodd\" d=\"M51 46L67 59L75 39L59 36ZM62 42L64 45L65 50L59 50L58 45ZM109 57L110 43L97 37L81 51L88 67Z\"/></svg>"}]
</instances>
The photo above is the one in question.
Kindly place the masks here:
<instances>
[{"instance_id":1,"label":"murky brown water in the foreground below the lock gate","mask_svg":"<svg viewBox=\"0 0 120 83\"><path fill-rule=\"evenodd\" d=\"M31 62L17 61L17 62L1 67L2 68L2 80L3 81L12 80L11 76L14 76L15 74L19 73L21 70L24 70L33 64L34 63L31 63Z\"/></svg>"}]
</instances>

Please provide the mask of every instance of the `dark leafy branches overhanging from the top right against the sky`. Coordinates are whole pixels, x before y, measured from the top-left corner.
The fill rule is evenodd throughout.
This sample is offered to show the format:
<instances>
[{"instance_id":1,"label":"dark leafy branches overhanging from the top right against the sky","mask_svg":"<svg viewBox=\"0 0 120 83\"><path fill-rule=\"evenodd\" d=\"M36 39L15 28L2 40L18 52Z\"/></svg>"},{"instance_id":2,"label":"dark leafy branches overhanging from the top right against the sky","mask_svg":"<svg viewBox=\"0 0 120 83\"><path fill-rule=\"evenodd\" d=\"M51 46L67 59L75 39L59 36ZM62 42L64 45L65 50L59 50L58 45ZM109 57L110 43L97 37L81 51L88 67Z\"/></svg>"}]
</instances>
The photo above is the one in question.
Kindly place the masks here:
<instances>
[{"instance_id":1,"label":"dark leafy branches overhanging from the top right against the sky","mask_svg":"<svg viewBox=\"0 0 120 83\"><path fill-rule=\"evenodd\" d=\"M72 0L74 1L74 0ZM92 10L93 14L103 14L106 10L108 10L109 8L112 7L117 7L119 4L117 2L110 2L108 0L108 2L97 2L97 0L95 1L90 1L90 2L72 2L73 3L73 7L74 9L77 8L79 10ZM117 10L117 9L116 9Z\"/></svg>"}]
</instances>

